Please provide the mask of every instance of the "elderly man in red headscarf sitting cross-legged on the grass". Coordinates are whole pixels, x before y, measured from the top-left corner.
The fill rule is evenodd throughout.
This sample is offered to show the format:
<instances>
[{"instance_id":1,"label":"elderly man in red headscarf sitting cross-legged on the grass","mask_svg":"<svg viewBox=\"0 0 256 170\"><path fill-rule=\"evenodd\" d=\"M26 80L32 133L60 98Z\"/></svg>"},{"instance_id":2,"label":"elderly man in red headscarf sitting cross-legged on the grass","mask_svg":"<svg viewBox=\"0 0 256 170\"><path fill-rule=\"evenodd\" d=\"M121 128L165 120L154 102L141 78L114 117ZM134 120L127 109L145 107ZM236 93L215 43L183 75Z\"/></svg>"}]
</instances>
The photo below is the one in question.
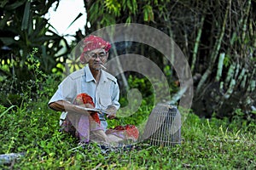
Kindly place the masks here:
<instances>
[{"instance_id":1,"label":"elderly man in red headscarf sitting cross-legged on the grass","mask_svg":"<svg viewBox=\"0 0 256 170\"><path fill-rule=\"evenodd\" d=\"M110 48L110 43L102 37L91 35L84 38L83 53L80 55L84 68L66 77L49 100L49 108L63 111L63 130L72 133L81 142L117 144L126 139L138 138L135 126L107 130L106 117L113 119L119 109L117 80L102 70ZM103 113L88 109L99 109Z\"/></svg>"}]
</instances>

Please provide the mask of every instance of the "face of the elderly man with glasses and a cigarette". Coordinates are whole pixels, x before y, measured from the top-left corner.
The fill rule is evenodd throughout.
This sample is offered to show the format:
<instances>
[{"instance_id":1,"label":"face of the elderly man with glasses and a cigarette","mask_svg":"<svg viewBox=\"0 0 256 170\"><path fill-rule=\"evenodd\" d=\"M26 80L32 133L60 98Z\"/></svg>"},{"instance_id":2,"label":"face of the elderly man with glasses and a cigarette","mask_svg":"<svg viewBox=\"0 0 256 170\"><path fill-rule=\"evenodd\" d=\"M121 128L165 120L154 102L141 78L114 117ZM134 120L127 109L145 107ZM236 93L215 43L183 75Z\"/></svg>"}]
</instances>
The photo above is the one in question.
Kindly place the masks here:
<instances>
[{"instance_id":1,"label":"face of the elderly man with glasses and a cigarette","mask_svg":"<svg viewBox=\"0 0 256 170\"><path fill-rule=\"evenodd\" d=\"M89 57L89 67L93 70L100 70L102 69L102 65L104 65L108 59L108 53L103 48L98 48L91 50L88 52Z\"/></svg>"}]
</instances>

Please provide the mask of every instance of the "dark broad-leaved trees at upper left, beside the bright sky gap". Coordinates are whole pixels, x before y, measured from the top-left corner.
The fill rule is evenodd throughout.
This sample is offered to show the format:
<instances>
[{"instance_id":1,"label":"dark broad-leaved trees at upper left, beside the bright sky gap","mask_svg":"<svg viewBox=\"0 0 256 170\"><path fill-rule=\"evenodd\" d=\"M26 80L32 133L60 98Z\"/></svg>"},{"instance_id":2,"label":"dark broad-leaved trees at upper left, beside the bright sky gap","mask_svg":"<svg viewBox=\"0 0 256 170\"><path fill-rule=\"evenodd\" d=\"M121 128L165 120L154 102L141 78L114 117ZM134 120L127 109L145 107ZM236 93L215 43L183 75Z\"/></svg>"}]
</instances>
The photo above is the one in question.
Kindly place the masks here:
<instances>
[{"instance_id":1,"label":"dark broad-leaved trees at upper left, beside the bright sky gap","mask_svg":"<svg viewBox=\"0 0 256 170\"><path fill-rule=\"evenodd\" d=\"M27 68L27 59L34 48L38 50L34 57L46 73L60 63L58 59L67 58L67 41L52 31L54 28L44 18L53 3L55 0L1 3L0 77L15 74L20 81L28 80L32 73Z\"/></svg>"}]
</instances>

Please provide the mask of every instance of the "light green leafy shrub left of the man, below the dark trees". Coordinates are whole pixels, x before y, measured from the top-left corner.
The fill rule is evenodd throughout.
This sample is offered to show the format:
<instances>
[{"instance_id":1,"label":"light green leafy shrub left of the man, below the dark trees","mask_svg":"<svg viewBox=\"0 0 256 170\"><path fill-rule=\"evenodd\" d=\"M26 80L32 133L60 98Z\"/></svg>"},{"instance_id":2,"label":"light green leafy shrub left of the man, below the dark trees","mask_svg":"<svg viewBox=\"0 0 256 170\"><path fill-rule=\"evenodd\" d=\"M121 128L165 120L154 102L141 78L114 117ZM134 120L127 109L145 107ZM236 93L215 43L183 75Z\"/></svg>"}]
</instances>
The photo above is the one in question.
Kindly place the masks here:
<instances>
[{"instance_id":1,"label":"light green leafy shrub left of the man, below the dark trees","mask_svg":"<svg viewBox=\"0 0 256 170\"><path fill-rule=\"evenodd\" d=\"M43 96L53 95L61 77L57 75L47 76L40 70L40 62L35 57L37 49L26 59L26 65L31 72L29 79L20 81L15 75L11 79L5 79L1 83L0 102L4 106L17 105L22 107L27 101L37 101ZM52 88L48 88L48 86Z\"/></svg>"}]
</instances>

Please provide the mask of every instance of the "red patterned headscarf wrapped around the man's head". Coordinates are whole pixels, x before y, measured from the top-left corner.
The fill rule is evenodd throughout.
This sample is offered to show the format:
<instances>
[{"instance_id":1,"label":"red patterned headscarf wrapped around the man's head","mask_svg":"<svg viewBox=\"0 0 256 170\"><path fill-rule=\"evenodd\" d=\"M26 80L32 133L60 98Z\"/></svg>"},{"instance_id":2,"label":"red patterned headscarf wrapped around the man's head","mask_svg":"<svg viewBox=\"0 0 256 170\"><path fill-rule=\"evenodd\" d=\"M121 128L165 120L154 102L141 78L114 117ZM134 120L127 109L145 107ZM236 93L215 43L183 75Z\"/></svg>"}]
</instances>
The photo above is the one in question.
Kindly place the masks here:
<instances>
[{"instance_id":1,"label":"red patterned headscarf wrapped around the man's head","mask_svg":"<svg viewBox=\"0 0 256 170\"><path fill-rule=\"evenodd\" d=\"M111 44L102 39L102 37L96 37L94 35L90 35L89 37L84 38L84 49L83 53L80 56L80 61L85 63L84 53L87 51L91 51L97 48L103 48L106 52L111 48Z\"/></svg>"}]
</instances>

